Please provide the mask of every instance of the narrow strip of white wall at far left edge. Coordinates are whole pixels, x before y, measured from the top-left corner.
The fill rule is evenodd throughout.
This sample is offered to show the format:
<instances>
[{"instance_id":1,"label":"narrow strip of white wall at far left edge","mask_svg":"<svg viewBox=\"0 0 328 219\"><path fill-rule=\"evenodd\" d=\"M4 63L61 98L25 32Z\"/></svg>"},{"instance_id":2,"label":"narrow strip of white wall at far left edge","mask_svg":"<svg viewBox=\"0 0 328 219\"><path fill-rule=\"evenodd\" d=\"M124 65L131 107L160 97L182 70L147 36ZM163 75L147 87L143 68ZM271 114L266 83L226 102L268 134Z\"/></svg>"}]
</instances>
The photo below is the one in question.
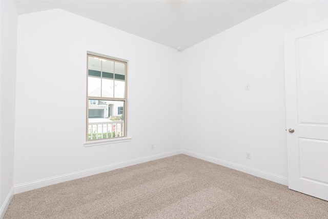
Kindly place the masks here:
<instances>
[{"instance_id":1,"label":"narrow strip of white wall at far left edge","mask_svg":"<svg viewBox=\"0 0 328 219\"><path fill-rule=\"evenodd\" d=\"M16 38L18 14L12 1L0 1L0 217L13 195ZM9 179L9 172L11 178Z\"/></svg>"}]
</instances>

